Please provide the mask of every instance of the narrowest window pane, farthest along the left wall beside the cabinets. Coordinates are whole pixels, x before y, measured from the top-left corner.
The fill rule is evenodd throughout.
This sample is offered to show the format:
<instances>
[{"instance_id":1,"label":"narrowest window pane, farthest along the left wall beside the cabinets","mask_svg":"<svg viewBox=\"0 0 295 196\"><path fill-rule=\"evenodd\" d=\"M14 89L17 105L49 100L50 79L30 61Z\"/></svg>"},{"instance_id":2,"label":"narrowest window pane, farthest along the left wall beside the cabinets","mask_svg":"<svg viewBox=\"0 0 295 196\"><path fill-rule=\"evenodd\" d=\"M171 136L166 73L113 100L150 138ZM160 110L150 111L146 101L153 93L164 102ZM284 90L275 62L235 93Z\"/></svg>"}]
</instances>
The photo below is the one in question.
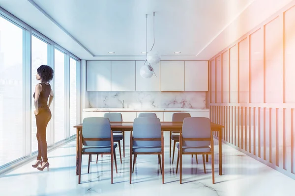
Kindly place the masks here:
<instances>
[{"instance_id":1,"label":"narrowest window pane, farthest along the left wall beside the cabinets","mask_svg":"<svg viewBox=\"0 0 295 196\"><path fill-rule=\"evenodd\" d=\"M77 61L70 58L70 136L76 134L73 128L77 124L77 83L76 83Z\"/></svg>"}]
</instances>

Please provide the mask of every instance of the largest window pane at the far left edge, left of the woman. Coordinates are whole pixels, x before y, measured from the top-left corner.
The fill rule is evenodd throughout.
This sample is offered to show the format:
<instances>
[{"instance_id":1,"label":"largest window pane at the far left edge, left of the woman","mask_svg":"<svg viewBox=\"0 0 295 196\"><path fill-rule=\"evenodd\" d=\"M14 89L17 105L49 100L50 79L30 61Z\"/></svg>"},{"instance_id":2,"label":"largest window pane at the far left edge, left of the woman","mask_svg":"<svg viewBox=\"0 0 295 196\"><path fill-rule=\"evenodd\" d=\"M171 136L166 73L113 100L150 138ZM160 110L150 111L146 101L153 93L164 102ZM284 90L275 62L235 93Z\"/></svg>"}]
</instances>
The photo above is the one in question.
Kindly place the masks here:
<instances>
[{"instance_id":1,"label":"largest window pane at the far left edge, left of the woman","mask_svg":"<svg viewBox=\"0 0 295 196\"><path fill-rule=\"evenodd\" d=\"M0 167L26 156L23 29L0 17Z\"/></svg>"}]
</instances>

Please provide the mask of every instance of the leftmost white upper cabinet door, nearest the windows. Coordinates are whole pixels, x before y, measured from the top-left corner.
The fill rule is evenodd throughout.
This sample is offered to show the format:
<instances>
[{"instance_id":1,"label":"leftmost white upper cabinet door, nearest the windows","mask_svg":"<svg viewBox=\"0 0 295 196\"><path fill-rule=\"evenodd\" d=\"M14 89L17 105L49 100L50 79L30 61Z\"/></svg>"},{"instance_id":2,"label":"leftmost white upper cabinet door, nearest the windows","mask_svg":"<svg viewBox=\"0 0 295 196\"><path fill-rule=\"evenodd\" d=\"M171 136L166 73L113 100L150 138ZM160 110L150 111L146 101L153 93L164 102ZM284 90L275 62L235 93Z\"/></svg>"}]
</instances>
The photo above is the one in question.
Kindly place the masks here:
<instances>
[{"instance_id":1,"label":"leftmost white upper cabinet door, nearest the windows","mask_svg":"<svg viewBox=\"0 0 295 196\"><path fill-rule=\"evenodd\" d=\"M87 91L111 91L111 61L87 61Z\"/></svg>"}]
</instances>

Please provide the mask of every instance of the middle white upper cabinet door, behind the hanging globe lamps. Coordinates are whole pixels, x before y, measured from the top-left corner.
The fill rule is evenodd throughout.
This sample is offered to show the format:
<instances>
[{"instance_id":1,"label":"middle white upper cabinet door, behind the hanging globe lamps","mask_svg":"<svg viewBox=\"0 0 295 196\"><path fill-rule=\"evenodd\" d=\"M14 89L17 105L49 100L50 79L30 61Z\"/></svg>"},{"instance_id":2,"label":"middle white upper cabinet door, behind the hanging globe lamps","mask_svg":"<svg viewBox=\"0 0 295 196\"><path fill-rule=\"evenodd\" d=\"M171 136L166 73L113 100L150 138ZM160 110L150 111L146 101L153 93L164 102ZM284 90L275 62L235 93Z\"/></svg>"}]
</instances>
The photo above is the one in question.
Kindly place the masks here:
<instances>
[{"instance_id":1,"label":"middle white upper cabinet door, behind the hanging globe lamps","mask_svg":"<svg viewBox=\"0 0 295 196\"><path fill-rule=\"evenodd\" d=\"M160 91L160 63L152 65L157 77L153 74L151 78L143 78L140 75L140 69L144 63L145 61L136 61L136 91Z\"/></svg>"}]
</instances>

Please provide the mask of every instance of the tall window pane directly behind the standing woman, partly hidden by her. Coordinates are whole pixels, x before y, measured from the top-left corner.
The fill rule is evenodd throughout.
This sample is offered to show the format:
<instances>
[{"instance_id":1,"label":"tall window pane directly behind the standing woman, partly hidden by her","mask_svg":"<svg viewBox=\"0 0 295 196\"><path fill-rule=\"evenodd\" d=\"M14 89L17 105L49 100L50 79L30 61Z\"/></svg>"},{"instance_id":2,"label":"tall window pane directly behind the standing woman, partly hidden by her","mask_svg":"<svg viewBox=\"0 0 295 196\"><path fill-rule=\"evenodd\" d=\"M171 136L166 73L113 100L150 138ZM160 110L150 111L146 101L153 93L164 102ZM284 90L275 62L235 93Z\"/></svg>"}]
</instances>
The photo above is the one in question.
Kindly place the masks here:
<instances>
[{"instance_id":1,"label":"tall window pane directly behind the standing woman, partly hidden by her","mask_svg":"<svg viewBox=\"0 0 295 196\"><path fill-rule=\"evenodd\" d=\"M42 40L38 39L35 36L32 36L32 66L31 66L31 71L32 71L32 94L35 92L35 87L40 81L36 80L36 73L37 73L37 68L40 67L41 65L47 65L48 64L48 44L43 42ZM33 96L33 95L32 95ZM32 98L32 152L38 150L38 142L36 138L36 133L37 133L37 126L36 126L36 118L34 115L34 99ZM49 126L49 123L48 123ZM47 127L46 129L46 140L47 140L47 145L49 146L49 141L48 137L49 136L49 128Z\"/></svg>"}]
</instances>

